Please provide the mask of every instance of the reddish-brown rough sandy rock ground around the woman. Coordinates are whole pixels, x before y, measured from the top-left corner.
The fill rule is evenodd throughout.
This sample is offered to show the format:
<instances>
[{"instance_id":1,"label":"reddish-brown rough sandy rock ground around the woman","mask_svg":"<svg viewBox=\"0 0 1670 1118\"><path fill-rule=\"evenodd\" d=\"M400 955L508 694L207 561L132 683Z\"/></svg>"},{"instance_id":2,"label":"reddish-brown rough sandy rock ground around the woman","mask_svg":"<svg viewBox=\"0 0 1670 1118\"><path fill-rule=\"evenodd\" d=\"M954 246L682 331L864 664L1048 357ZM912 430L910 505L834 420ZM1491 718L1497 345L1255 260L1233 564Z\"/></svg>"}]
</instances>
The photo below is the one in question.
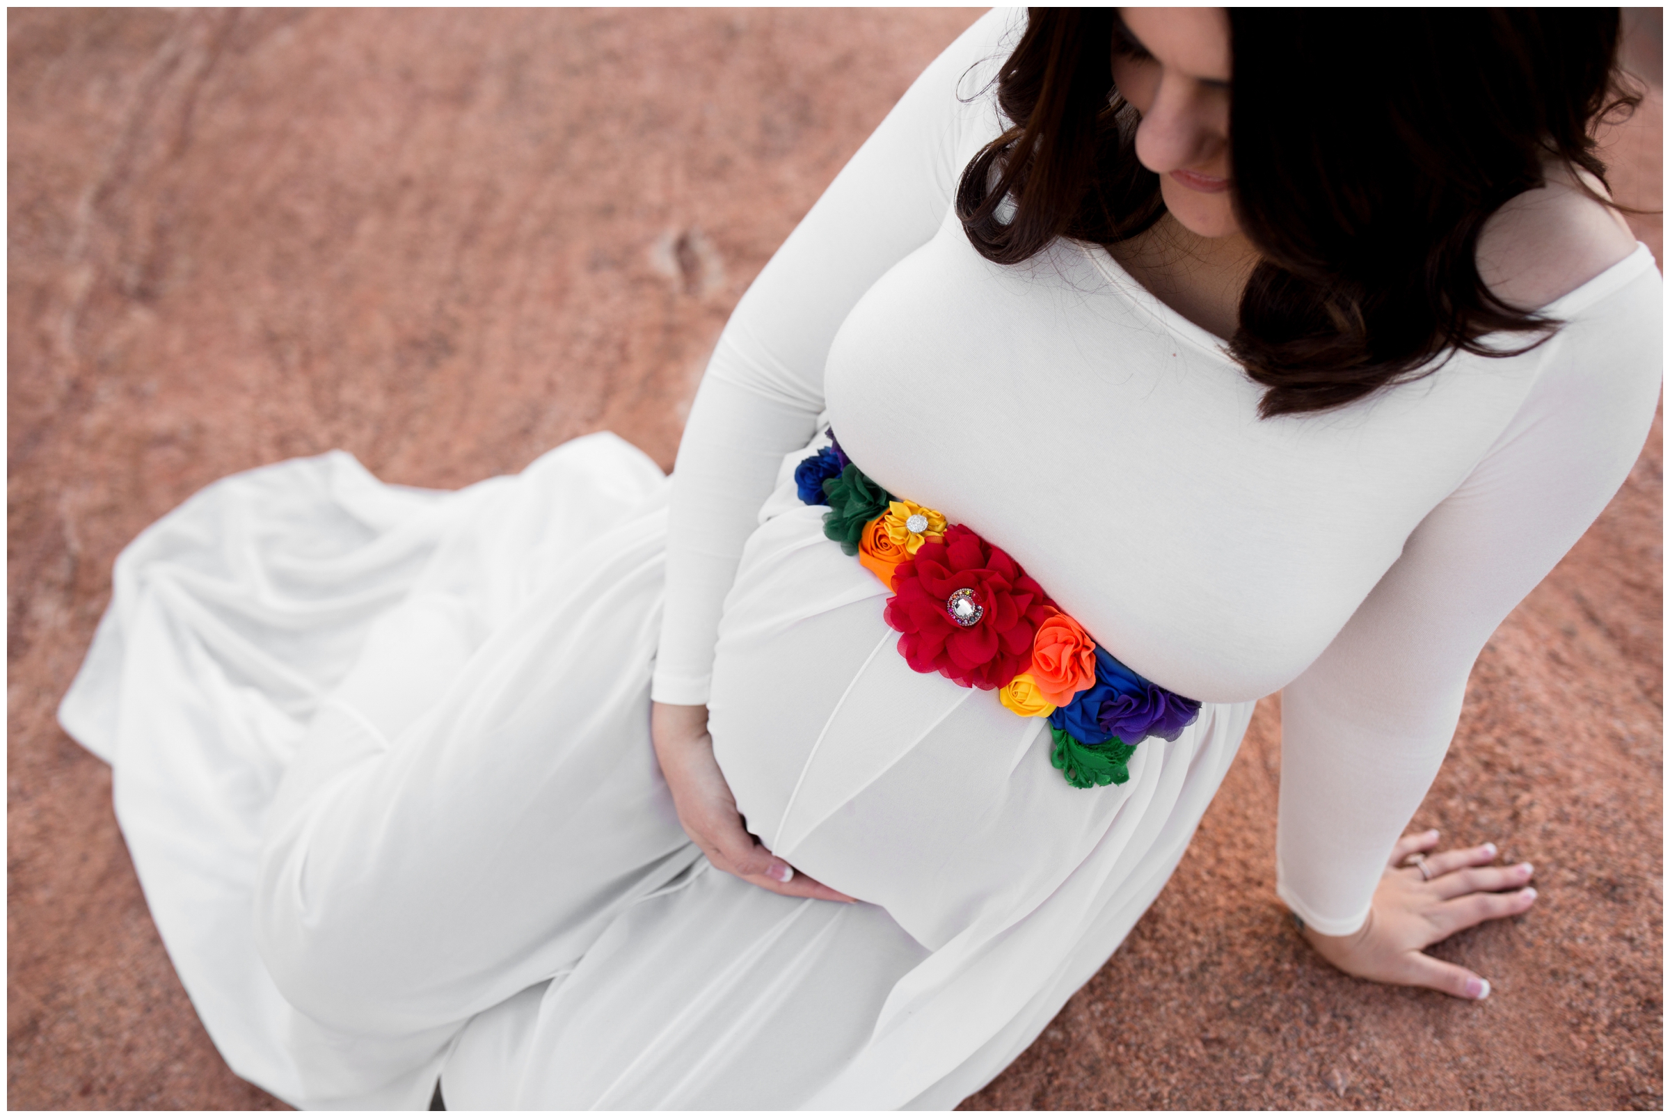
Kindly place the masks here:
<instances>
[{"instance_id":1,"label":"reddish-brown rough sandy rock ground around the woman","mask_svg":"<svg viewBox=\"0 0 1670 1118\"><path fill-rule=\"evenodd\" d=\"M451 487L606 427L670 466L738 295L974 15L12 10L10 1106L277 1106L53 721L117 551L331 447ZM1612 138L1647 207L1660 122ZM1660 444L1486 647L1416 816L1538 866L1528 916L1438 948L1488 1001L1296 938L1268 701L1164 896L967 1106L1660 1106Z\"/></svg>"}]
</instances>

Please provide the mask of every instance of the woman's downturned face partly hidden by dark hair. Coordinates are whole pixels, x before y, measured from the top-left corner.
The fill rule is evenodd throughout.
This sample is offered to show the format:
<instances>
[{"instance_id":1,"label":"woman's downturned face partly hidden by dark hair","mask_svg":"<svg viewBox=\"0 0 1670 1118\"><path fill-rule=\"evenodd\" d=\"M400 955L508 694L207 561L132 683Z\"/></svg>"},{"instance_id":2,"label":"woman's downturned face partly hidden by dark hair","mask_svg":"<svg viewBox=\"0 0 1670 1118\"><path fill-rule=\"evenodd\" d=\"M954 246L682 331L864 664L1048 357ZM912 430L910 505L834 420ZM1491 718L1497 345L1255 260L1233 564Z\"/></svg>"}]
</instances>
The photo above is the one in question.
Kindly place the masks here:
<instances>
[{"instance_id":1,"label":"woman's downturned face partly hidden by dark hair","mask_svg":"<svg viewBox=\"0 0 1670 1118\"><path fill-rule=\"evenodd\" d=\"M1137 159L1201 237L1239 232L1229 172L1229 12L1119 8L1114 85L1142 113Z\"/></svg>"}]
</instances>

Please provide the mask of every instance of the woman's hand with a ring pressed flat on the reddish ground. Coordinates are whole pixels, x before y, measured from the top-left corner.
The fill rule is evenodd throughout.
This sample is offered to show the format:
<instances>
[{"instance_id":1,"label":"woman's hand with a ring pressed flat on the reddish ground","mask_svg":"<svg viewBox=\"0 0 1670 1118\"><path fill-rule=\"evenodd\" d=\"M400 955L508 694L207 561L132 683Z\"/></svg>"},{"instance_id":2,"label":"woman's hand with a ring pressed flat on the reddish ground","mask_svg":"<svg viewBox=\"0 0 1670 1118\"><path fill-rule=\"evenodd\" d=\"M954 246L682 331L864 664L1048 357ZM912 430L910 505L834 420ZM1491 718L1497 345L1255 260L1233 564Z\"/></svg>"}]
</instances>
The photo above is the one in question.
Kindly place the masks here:
<instances>
[{"instance_id":1,"label":"woman's hand with a ring pressed flat on the reddish ground","mask_svg":"<svg viewBox=\"0 0 1670 1118\"><path fill-rule=\"evenodd\" d=\"M1349 936L1324 936L1304 928L1316 951L1346 974L1394 986L1428 986L1456 998L1490 996L1490 983L1455 963L1425 954L1440 939L1486 919L1518 916L1536 901L1531 864L1491 866L1490 843L1428 854L1438 831L1406 834L1374 889L1368 921ZM1420 864L1403 864L1416 858ZM1425 873L1423 873L1425 868Z\"/></svg>"}]
</instances>

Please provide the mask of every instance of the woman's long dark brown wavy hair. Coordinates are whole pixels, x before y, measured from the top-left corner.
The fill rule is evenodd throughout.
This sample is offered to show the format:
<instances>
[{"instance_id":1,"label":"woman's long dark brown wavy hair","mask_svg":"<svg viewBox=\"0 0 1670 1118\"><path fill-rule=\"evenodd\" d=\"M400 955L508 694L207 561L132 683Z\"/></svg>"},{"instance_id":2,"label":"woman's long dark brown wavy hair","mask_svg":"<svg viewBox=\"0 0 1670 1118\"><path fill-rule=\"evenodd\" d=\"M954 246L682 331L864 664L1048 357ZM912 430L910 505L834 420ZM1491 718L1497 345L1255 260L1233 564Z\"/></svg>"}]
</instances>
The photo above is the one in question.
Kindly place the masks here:
<instances>
[{"instance_id":1,"label":"woman's long dark brown wavy hair","mask_svg":"<svg viewBox=\"0 0 1670 1118\"><path fill-rule=\"evenodd\" d=\"M1617 8L1231 8L1229 23L1236 214L1261 254L1229 355L1269 389L1264 415L1558 327L1496 299L1475 250L1503 202L1543 185L1543 159L1605 182L1593 128L1640 100L1617 70ZM1015 123L957 190L985 259L1111 245L1164 214L1112 83L1117 33L1112 8L1030 8L997 75ZM1493 349L1493 330L1535 337Z\"/></svg>"}]
</instances>

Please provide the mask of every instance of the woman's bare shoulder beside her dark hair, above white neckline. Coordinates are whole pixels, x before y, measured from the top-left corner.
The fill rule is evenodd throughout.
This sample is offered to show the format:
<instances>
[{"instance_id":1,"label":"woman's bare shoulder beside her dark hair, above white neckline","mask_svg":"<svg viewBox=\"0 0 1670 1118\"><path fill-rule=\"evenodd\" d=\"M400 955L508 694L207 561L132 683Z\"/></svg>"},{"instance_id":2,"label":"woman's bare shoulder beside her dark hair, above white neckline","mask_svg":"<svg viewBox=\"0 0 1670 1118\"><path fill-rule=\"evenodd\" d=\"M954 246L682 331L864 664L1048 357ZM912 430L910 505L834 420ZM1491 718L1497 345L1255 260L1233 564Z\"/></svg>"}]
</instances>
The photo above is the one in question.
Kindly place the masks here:
<instances>
[{"instance_id":1,"label":"woman's bare shoulder beside her dark hair, above white neckline","mask_svg":"<svg viewBox=\"0 0 1670 1118\"><path fill-rule=\"evenodd\" d=\"M1586 172L1602 197L1607 189ZM1576 290L1635 252L1623 217L1588 197L1565 165L1551 167L1546 185L1510 199L1491 214L1478 239L1478 274L1515 307L1543 307Z\"/></svg>"}]
</instances>

